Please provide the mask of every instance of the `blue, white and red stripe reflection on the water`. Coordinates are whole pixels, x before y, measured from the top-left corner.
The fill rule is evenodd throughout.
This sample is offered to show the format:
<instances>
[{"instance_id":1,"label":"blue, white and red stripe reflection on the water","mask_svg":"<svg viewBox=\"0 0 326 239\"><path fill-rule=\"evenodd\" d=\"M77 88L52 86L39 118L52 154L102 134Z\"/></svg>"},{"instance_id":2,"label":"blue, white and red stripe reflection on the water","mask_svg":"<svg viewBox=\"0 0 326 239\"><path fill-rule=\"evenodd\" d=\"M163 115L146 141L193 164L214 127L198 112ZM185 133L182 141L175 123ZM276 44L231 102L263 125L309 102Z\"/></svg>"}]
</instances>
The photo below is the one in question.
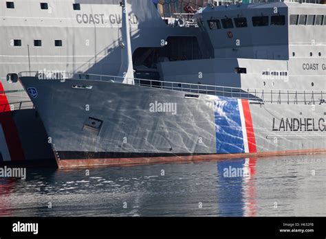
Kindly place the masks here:
<instances>
[{"instance_id":1,"label":"blue, white and red stripe reflection on the water","mask_svg":"<svg viewBox=\"0 0 326 239\"><path fill-rule=\"evenodd\" d=\"M255 172L253 158L217 163L220 216L256 216Z\"/></svg>"}]
</instances>

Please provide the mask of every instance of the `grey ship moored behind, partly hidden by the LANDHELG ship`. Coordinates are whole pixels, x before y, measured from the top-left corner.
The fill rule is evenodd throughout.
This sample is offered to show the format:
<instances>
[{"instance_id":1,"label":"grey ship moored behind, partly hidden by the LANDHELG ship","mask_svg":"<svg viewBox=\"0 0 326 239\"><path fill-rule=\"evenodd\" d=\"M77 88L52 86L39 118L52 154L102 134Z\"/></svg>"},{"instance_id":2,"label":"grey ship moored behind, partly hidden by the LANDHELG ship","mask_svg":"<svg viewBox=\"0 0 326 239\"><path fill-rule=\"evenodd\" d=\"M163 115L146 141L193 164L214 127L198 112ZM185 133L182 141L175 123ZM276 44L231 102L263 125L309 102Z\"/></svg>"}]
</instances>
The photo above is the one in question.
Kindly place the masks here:
<instances>
[{"instance_id":1,"label":"grey ship moored behind, partly hidden by the LANDHELG ship","mask_svg":"<svg viewBox=\"0 0 326 239\"><path fill-rule=\"evenodd\" d=\"M188 1L182 3L178 12L184 11ZM169 36L169 42L177 41L187 49L191 45L195 49L197 41L203 39L193 17L189 19L192 21L186 21L189 14L174 14L174 3L164 2L160 1L157 10L153 1L133 0L129 14L131 45L138 49L135 69L141 78L158 77L157 71L146 67L144 56L155 55L152 49L158 49L162 39ZM192 8L199 8L195 2L202 4L192 2ZM56 164L43 122L28 93L16 75L7 77L7 74L26 69L57 75L116 74L121 65L119 3L118 0L0 0L0 165ZM174 52L173 58L184 52L182 48L180 52L172 48L168 51ZM193 52L182 55L185 56L198 58Z\"/></svg>"}]
</instances>

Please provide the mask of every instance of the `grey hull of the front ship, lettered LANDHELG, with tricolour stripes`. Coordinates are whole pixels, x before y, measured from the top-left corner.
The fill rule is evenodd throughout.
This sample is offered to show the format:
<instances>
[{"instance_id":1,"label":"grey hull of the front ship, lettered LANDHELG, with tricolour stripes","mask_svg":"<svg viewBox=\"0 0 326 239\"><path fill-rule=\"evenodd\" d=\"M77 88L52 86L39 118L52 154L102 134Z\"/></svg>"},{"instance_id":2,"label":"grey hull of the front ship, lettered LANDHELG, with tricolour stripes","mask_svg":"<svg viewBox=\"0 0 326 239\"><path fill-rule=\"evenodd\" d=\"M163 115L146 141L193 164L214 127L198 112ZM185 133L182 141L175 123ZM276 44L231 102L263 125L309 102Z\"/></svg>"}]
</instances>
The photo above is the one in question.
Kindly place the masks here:
<instances>
[{"instance_id":1,"label":"grey hull of the front ship, lettered LANDHELG, with tricolour stripes","mask_svg":"<svg viewBox=\"0 0 326 239\"><path fill-rule=\"evenodd\" d=\"M21 82L37 91L33 102L61 168L326 151L323 104L202 93L194 99L98 80ZM151 109L159 103L175 104L175 111Z\"/></svg>"}]
</instances>

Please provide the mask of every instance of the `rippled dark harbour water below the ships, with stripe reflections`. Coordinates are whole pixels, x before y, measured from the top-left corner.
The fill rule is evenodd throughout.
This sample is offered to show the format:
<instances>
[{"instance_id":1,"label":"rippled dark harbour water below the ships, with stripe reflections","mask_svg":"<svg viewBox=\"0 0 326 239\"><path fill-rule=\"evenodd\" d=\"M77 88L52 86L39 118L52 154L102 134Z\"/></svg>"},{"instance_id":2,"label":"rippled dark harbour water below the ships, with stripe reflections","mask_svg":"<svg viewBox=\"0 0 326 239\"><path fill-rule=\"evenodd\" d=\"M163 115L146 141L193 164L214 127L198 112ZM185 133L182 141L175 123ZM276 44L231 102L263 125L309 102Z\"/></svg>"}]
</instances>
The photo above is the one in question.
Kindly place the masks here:
<instances>
[{"instance_id":1,"label":"rippled dark harbour water below the ships, with stripe reflections","mask_svg":"<svg viewBox=\"0 0 326 239\"><path fill-rule=\"evenodd\" d=\"M325 216L326 155L27 170L0 216Z\"/></svg>"}]
</instances>

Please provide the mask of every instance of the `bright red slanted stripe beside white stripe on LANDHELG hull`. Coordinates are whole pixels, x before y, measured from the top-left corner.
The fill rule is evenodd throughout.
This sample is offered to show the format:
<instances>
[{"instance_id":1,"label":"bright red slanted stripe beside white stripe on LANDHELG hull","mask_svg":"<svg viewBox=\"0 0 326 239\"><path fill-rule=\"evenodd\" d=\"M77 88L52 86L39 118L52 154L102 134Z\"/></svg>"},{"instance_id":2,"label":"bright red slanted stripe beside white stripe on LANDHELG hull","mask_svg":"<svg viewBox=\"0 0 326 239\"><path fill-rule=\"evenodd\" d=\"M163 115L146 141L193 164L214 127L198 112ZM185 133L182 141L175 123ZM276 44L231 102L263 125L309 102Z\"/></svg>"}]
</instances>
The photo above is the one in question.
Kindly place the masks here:
<instances>
[{"instance_id":1,"label":"bright red slanted stripe beside white stripe on LANDHELG hull","mask_svg":"<svg viewBox=\"0 0 326 239\"><path fill-rule=\"evenodd\" d=\"M241 100L243 115L246 121L246 130L248 137L248 150L249 152L257 152L256 139L254 138L254 126L252 125L252 117L249 108L248 100Z\"/></svg>"}]
</instances>

